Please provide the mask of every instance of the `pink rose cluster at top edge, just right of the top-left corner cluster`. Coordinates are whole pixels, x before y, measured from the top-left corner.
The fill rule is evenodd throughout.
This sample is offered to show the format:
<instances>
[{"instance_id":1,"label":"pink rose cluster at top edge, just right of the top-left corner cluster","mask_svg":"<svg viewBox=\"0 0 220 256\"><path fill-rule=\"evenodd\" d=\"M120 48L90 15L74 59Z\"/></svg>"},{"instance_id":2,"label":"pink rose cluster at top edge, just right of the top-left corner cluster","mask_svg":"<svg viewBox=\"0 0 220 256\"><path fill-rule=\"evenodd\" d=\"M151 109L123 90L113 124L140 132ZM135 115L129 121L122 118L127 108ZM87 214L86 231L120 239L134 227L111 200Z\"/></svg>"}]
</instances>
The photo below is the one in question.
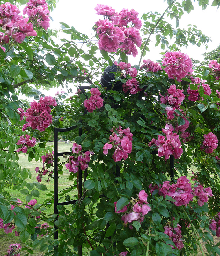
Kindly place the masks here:
<instances>
[{"instance_id":1,"label":"pink rose cluster at top edge, just right of the top-left corner cluster","mask_svg":"<svg viewBox=\"0 0 220 256\"><path fill-rule=\"evenodd\" d=\"M27 14L37 27L47 30L50 26L50 11L45 0L29 0L23 10L23 14Z\"/></svg>"}]
</instances>

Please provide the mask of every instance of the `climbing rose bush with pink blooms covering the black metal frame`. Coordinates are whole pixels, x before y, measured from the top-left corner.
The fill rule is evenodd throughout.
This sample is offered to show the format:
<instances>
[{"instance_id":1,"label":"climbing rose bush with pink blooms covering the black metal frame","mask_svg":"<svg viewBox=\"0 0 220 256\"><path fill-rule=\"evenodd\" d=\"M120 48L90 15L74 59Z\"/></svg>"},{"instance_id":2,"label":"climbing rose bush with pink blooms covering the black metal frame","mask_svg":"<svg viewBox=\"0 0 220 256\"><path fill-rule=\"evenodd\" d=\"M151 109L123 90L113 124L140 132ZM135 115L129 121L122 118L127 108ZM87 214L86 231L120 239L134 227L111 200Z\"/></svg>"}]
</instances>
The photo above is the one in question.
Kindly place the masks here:
<instances>
[{"instance_id":1,"label":"climbing rose bush with pink blooms covering the black metal frame","mask_svg":"<svg viewBox=\"0 0 220 256\"><path fill-rule=\"evenodd\" d=\"M220 236L219 67L215 61L193 66L176 45L209 38L165 21L165 14L175 17L178 27L184 11L193 9L191 1L167 1L163 15L146 13L143 22L134 9L116 12L98 4L94 8L104 17L94 26L96 40L61 22L71 36L61 45L58 31L49 29L55 1L25 2L24 17L24 1L0 5L0 228L26 245L11 244L8 256L34 254L37 246L45 255L79 255L83 249L91 256L173 256L199 248L204 256L201 240L207 255L220 255L211 236ZM163 50L167 45L157 63L143 60L152 35ZM136 47L141 58L132 66L128 55L136 56ZM110 79L100 79L106 70ZM79 86L74 96L68 95L70 82ZM58 85L67 92L40 92ZM37 101L19 100L19 93ZM46 142L54 127L70 126L82 134L77 128L68 133L74 143L59 156L58 175L72 186L58 194L66 200L59 213L48 214L54 195L48 191L42 204L36 199L54 178L54 152ZM42 160L36 181L26 180L31 173L19 165L19 154Z\"/></svg>"}]
</instances>

